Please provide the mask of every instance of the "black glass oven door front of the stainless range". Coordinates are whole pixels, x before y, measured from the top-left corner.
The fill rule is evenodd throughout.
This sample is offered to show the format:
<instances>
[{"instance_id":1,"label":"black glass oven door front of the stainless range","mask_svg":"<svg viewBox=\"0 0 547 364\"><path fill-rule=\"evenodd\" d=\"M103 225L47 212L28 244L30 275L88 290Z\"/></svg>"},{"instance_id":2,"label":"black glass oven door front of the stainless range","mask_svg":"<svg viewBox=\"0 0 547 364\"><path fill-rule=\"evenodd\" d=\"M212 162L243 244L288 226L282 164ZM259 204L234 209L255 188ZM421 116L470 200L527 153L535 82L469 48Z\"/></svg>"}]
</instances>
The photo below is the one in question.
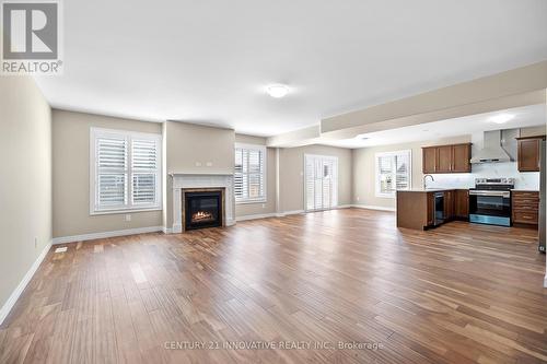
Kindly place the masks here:
<instances>
[{"instance_id":1,"label":"black glass oven door front of the stainless range","mask_svg":"<svg viewBox=\"0 0 547 364\"><path fill-rule=\"evenodd\" d=\"M469 220L472 222L511 225L510 191L469 191Z\"/></svg>"}]
</instances>

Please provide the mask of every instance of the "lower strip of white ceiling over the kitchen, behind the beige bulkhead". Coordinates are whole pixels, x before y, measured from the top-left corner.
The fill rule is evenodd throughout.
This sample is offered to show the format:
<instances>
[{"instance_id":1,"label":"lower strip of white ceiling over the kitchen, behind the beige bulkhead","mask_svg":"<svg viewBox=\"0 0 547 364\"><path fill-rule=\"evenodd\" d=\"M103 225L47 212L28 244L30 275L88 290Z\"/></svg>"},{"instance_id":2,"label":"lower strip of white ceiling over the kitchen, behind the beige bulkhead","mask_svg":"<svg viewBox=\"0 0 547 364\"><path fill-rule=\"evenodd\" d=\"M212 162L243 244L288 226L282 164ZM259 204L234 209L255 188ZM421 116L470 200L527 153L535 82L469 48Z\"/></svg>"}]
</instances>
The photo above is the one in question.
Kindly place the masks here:
<instances>
[{"instance_id":1,"label":"lower strip of white ceiling over the kitchen, behind the beige bulkhead","mask_svg":"<svg viewBox=\"0 0 547 364\"><path fill-rule=\"evenodd\" d=\"M503 114L513 116L513 119L501 125L491 121L492 117ZM357 136L353 139L333 141L319 138L314 140L314 143L341 148L388 145L467 136L487 130L545 127L546 120L545 104L540 104L370 132Z\"/></svg>"}]
</instances>

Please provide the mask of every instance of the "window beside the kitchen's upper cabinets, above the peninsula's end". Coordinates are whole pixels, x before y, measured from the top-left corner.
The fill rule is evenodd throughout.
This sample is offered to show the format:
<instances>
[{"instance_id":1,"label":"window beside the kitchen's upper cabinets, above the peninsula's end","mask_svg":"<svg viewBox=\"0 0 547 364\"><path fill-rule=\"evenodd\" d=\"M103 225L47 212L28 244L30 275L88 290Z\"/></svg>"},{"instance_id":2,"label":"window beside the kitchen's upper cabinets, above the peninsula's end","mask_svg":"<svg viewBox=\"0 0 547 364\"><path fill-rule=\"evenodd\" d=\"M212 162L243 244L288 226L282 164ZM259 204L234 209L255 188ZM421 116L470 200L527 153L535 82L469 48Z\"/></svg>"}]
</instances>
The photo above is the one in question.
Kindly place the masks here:
<instances>
[{"instance_id":1,"label":"window beside the kitchen's upper cabinets, above the peninsula's end","mask_svg":"<svg viewBox=\"0 0 547 364\"><path fill-rule=\"evenodd\" d=\"M410 151L377 153L375 156L376 197L395 197L396 190L410 189Z\"/></svg>"}]
</instances>

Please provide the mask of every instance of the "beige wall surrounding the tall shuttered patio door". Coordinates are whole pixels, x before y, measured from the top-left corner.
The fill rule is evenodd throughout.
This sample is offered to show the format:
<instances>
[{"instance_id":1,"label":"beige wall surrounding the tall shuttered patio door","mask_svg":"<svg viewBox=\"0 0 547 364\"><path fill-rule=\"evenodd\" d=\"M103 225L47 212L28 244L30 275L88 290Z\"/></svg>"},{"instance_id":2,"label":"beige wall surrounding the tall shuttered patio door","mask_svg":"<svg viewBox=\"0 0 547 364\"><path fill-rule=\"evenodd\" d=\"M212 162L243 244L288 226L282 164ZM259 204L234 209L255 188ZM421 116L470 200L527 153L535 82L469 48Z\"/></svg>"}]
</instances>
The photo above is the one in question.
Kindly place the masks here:
<instances>
[{"instance_id":1,"label":"beige wall surrounding the tall shuttered patio door","mask_svg":"<svg viewBox=\"0 0 547 364\"><path fill-rule=\"evenodd\" d=\"M280 149L279 190L281 211L304 210L304 154L338 157L338 204L351 203L351 150L324 145L306 145Z\"/></svg>"}]
</instances>

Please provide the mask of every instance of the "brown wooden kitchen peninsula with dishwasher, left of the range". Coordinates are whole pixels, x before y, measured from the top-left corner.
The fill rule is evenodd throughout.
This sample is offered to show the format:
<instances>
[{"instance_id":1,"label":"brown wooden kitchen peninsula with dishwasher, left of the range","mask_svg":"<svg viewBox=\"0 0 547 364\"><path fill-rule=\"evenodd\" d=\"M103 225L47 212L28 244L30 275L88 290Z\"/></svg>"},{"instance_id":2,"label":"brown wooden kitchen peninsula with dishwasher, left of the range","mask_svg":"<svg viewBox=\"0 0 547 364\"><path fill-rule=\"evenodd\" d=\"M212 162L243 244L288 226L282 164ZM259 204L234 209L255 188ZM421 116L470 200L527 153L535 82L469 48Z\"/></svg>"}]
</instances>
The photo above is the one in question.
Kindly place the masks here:
<instances>
[{"instance_id":1,"label":"brown wooden kitchen peninsula with dishwasher, left of the range","mask_svg":"<svg viewBox=\"0 0 547 364\"><path fill-rule=\"evenodd\" d=\"M397 227L427 230L449 221L468 219L468 189L412 188L397 191Z\"/></svg>"}]
</instances>

